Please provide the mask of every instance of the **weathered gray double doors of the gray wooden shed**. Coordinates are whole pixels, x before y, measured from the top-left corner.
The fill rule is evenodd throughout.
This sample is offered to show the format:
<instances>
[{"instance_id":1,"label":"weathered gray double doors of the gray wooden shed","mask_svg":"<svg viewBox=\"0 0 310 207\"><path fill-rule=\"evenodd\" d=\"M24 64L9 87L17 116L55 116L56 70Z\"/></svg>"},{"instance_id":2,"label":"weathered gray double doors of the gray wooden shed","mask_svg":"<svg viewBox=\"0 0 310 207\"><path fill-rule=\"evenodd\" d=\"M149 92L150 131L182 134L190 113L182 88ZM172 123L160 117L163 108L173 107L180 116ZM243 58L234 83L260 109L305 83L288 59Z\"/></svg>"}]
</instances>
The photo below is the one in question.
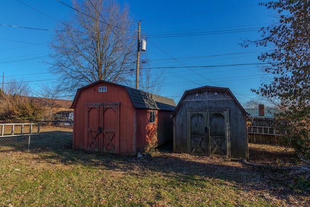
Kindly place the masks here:
<instances>
[{"instance_id":1,"label":"weathered gray double doors of the gray wooden shed","mask_svg":"<svg viewBox=\"0 0 310 207\"><path fill-rule=\"evenodd\" d=\"M193 155L230 157L229 111L187 111L187 150Z\"/></svg>"}]
</instances>

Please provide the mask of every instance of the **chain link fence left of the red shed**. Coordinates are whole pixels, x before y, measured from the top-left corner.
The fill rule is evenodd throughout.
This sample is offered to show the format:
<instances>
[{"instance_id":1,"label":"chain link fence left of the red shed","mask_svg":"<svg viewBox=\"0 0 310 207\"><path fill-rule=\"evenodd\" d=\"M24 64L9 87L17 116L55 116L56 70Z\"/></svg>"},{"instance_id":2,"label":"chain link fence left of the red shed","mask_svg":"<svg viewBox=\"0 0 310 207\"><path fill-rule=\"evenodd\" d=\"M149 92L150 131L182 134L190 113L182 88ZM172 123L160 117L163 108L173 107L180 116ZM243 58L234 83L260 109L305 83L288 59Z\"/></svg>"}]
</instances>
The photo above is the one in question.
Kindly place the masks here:
<instances>
[{"instance_id":1,"label":"chain link fence left of the red shed","mask_svg":"<svg viewBox=\"0 0 310 207\"><path fill-rule=\"evenodd\" d=\"M13 124L14 122L10 123ZM14 127L8 124L1 125L0 150L7 147L20 150L29 149L30 151L31 149L72 147L72 121L31 121L23 123L32 123L32 127L30 125L23 126L22 123L18 122L15 122ZM33 125L33 123L38 125ZM40 133L36 134L38 128Z\"/></svg>"}]
</instances>

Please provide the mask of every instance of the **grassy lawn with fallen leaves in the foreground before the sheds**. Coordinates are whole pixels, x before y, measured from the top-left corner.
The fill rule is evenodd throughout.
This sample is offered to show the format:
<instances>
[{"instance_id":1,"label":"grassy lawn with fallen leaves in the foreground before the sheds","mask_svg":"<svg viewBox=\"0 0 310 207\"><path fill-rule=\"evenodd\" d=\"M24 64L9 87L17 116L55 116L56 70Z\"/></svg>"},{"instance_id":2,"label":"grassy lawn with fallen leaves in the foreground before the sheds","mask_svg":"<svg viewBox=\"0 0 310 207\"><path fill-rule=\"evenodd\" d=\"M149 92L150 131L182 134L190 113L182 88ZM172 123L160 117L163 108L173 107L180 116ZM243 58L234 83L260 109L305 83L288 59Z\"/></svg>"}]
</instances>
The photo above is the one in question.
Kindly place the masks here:
<instances>
[{"instance_id":1,"label":"grassy lawn with fallen leaves in the foreground before the sheds","mask_svg":"<svg viewBox=\"0 0 310 207\"><path fill-rule=\"evenodd\" d=\"M167 151L150 154L138 159L0 147L0 206L310 205L309 191L292 190L294 179L283 171Z\"/></svg>"}]
</instances>

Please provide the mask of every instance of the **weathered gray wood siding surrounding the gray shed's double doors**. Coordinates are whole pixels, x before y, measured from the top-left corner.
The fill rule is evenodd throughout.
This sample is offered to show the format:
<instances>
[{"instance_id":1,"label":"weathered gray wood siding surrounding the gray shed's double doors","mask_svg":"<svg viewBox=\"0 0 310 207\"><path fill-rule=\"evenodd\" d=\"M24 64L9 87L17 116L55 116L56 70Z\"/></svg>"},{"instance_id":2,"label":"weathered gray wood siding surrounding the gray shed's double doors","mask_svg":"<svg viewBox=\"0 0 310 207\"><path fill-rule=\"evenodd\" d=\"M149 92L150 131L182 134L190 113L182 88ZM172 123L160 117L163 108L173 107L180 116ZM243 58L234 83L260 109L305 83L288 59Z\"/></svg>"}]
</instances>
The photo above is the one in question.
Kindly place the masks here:
<instances>
[{"instance_id":1,"label":"weathered gray wood siding surrounding the gray shed's double doors","mask_svg":"<svg viewBox=\"0 0 310 207\"><path fill-rule=\"evenodd\" d=\"M187 91L174 114L173 151L188 152L187 111L227 110L229 113L229 144L233 158L248 157L246 113L227 89L200 88Z\"/></svg>"}]
</instances>

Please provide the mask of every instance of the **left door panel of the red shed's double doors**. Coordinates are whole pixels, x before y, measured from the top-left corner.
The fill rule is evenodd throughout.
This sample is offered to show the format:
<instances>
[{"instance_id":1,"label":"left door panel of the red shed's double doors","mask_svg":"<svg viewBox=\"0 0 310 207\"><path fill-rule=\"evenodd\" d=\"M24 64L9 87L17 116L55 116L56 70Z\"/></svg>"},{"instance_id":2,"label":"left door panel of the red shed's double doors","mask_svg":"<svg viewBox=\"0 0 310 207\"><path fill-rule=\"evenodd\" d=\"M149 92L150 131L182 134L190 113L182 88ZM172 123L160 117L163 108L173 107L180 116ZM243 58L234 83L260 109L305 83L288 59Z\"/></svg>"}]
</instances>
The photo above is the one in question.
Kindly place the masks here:
<instances>
[{"instance_id":1,"label":"left door panel of the red shed's double doors","mask_svg":"<svg viewBox=\"0 0 310 207\"><path fill-rule=\"evenodd\" d=\"M86 135L84 149L99 151L99 106L86 106Z\"/></svg>"}]
</instances>

